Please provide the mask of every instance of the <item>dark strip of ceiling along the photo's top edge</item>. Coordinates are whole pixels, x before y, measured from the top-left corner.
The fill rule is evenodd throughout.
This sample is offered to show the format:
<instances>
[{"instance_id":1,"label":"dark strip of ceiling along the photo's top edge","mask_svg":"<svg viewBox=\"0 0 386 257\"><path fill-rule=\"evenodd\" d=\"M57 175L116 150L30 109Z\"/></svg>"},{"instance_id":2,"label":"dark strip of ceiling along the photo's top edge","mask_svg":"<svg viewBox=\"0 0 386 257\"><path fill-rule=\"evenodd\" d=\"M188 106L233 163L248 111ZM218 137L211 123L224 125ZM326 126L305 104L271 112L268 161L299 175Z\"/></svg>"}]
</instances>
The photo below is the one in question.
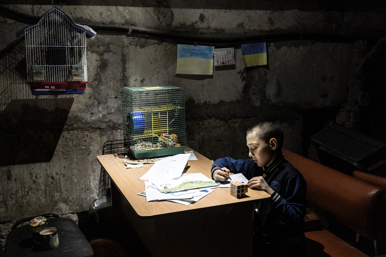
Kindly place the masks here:
<instances>
[{"instance_id":1,"label":"dark strip of ceiling along the photo's top edge","mask_svg":"<svg viewBox=\"0 0 386 257\"><path fill-rule=\"evenodd\" d=\"M2 4L15 4L15 0L2 0ZM354 11L384 12L384 0L18 0L18 5L79 5L79 6L127 6L168 7L223 10L300 10L300 11Z\"/></svg>"}]
</instances>

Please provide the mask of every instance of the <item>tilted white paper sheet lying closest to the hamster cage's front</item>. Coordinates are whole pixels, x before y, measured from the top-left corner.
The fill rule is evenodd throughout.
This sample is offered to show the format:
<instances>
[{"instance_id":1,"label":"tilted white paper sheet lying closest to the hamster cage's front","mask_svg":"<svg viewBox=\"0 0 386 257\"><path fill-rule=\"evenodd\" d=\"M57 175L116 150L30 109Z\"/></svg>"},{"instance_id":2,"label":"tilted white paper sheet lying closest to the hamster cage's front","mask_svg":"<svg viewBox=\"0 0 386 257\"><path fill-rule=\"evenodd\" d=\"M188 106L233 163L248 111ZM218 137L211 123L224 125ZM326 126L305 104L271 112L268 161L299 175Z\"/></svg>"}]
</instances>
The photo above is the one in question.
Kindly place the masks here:
<instances>
[{"instance_id":1,"label":"tilted white paper sheet lying closest to the hamster cage's front","mask_svg":"<svg viewBox=\"0 0 386 257\"><path fill-rule=\"evenodd\" d=\"M141 180L176 179L181 177L190 154L177 154L154 163Z\"/></svg>"}]
</instances>

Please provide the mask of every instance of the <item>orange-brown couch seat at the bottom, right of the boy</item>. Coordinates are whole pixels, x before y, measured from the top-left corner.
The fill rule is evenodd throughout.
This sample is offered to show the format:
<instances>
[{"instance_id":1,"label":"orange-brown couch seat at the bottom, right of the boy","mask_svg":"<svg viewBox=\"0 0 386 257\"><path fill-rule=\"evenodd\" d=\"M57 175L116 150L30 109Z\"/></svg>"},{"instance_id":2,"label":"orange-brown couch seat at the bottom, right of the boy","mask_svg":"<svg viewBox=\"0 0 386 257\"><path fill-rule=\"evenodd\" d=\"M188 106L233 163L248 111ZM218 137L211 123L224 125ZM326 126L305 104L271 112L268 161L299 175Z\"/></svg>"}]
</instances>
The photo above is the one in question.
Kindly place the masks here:
<instances>
[{"instance_id":1,"label":"orange-brown couch seat at the bottom, right of the boy","mask_svg":"<svg viewBox=\"0 0 386 257\"><path fill-rule=\"evenodd\" d=\"M323 228L305 232L305 235L306 256L368 257L368 255Z\"/></svg>"}]
</instances>

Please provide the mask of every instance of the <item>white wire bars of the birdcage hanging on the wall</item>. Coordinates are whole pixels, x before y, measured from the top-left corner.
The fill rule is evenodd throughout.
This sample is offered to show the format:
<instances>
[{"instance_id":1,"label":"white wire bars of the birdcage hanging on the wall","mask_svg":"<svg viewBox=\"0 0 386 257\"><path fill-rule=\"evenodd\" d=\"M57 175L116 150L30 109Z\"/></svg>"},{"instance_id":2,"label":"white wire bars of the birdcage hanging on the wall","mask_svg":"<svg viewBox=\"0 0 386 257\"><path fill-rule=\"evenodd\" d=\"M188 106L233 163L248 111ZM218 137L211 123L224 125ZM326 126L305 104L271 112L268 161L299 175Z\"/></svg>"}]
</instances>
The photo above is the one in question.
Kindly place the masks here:
<instances>
[{"instance_id":1,"label":"white wire bars of the birdcage hanging on the wall","mask_svg":"<svg viewBox=\"0 0 386 257\"><path fill-rule=\"evenodd\" d=\"M28 82L73 81L74 65L81 66L82 80L87 81L86 30L74 26L58 9L25 29L25 47ZM41 66L44 76L34 76L33 66Z\"/></svg>"}]
</instances>

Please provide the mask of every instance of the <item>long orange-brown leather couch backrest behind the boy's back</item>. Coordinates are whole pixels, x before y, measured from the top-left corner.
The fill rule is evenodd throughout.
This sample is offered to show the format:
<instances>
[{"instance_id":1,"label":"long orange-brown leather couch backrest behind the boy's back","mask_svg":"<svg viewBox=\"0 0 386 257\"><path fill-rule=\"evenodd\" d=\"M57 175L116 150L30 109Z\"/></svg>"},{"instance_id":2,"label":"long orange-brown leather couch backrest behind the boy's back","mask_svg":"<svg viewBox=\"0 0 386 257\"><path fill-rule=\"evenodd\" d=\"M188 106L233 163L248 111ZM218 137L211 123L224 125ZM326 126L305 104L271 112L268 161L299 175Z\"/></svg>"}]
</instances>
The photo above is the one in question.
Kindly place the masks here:
<instances>
[{"instance_id":1,"label":"long orange-brown leather couch backrest behind the boy's back","mask_svg":"<svg viewBox=\"0 0 386 257\"><path fill-rule=\"evenodd\" d=\"M283 149L284 158L307 182L307 201L371 240L381 234L379 205L384 190Z\"/></svg>"}]
</instances>

